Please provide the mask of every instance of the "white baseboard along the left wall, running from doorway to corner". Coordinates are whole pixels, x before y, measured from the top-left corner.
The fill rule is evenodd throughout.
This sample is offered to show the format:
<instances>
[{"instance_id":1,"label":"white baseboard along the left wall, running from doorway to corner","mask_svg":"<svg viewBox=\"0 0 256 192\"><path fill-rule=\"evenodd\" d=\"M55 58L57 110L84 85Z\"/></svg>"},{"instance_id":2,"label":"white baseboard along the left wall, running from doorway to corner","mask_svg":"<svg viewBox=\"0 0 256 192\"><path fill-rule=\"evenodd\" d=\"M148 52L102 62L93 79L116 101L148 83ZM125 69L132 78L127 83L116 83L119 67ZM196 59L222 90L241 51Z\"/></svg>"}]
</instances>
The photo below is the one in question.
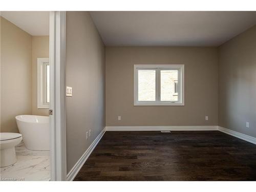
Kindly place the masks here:
<instances>
[{"instance_id":1,"label":"white baseboard along the left wall, running from doorway to corner","mask_svg":"<svg viewBox=\"0 0 256 192\"><path fill-rule=\"evenodd\" d=\"M93 152L94 148L96 147L96 145L98 144L98 142L100 141L102 136L104 135L104 133L105 133L105 128L102 130L102 132L100 132L100 134L96 137L96 139L88 147L87 151L84 152L82 157L76 162L74 167L70 170L70 172L67 175L67 181L73 181L75 179L75 177L78 174L79 170L82 168L83 164L86 162L88 157L91 155L91 153Z\"/></svg>"}]
</instances>

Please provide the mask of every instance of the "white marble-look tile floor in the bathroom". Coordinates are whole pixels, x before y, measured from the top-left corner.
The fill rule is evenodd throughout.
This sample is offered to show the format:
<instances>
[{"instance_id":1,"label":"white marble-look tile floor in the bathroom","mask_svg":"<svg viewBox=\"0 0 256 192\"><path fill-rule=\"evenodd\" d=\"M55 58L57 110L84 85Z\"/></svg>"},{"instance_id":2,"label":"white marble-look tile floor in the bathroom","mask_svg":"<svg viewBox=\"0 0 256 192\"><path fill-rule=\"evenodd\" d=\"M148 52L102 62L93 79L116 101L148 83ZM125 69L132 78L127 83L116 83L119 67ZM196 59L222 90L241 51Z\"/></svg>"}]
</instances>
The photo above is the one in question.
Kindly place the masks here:
<instances>
[{"instance_id":1,"label":"white marble-look tile floor in the bathroom","mask_svg":"<svg viewBox=\"0 0 256 192\"><path fill-rule=\"evenodd\" d=\"M0 180L49 181L50 152L27 150L24 143L16 146L17 162L1 167Z\"/></svg>"}]
</instances>

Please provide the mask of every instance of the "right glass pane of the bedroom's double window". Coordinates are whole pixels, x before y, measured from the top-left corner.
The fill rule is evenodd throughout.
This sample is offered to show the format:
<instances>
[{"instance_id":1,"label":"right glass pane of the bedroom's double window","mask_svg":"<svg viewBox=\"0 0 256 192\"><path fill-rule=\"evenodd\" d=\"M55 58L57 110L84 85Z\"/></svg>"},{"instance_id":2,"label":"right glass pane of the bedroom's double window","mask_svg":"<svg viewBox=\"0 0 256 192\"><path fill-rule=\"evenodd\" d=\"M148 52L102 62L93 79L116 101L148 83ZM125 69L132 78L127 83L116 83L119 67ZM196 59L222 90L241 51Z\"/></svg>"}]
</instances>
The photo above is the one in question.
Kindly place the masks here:
<instances>
[{"instance_id":1,"label":"right glass pane of the bedroom's double window","mask_svg":"<svg viewBox=\"0 0 256 192\"><path fill-rule=\"evenodd\" d=\"M161 101L178 101L178 70L161 70Z\"/></svg>"}]
</instances>

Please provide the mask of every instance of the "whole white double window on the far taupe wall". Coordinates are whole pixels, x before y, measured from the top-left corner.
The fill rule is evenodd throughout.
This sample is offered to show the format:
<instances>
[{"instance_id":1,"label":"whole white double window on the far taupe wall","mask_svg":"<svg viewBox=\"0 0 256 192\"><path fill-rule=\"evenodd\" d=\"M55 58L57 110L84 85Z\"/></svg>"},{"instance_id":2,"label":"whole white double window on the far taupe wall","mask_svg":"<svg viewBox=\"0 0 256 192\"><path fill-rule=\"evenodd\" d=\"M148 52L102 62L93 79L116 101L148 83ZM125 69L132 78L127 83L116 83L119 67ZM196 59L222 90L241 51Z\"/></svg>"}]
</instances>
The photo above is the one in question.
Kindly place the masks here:
<instances>
[{"instance_id":1,"label":"whole white double window on the far taupe wall","mask_svg":"<svg viewBox=\"0 0 256 192\"><path fill-rule=\"evenodd\" d=\"M184 105L184 65L134 65L134 105Z\"/></svg>"}]
</instances>

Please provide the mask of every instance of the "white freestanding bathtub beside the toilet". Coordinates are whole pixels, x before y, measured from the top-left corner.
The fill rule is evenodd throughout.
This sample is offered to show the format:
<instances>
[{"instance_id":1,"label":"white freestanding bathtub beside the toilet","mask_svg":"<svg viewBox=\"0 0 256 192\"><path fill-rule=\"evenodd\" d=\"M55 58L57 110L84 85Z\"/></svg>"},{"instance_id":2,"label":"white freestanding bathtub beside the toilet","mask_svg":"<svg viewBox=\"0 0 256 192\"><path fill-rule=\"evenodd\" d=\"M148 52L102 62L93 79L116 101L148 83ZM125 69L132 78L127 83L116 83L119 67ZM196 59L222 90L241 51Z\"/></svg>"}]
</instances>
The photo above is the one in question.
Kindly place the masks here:
<instances>
[{"instance_id":1,"label":"white freestanding bathtub beside the toilet","mask_svg":"<svg viewBox=\"0 0 256 192\"><path fill-rule=\"evenodd\" d=\"M23 135L25 146L29 150L50 150L49 117L37 115L18 115L16 122L19 132Z\"/></svg>"}]
</instances>

